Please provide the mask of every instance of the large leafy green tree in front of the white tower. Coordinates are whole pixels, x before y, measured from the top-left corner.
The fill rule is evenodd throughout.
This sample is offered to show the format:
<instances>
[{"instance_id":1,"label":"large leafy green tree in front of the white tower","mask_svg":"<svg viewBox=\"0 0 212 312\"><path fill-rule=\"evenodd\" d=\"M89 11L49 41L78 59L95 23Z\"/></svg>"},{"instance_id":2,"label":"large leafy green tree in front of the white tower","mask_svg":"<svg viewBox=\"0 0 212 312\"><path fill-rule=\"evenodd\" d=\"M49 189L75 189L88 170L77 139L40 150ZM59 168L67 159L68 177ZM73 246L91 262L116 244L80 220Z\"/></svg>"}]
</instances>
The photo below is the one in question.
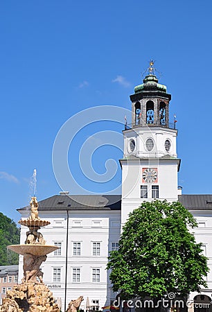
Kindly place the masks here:
<instances>
[{"instance_id":1,"label":"large leafy green tree in front of the white tower","mask_svg":"<svg viewBox=\"0 0 212 312\"><path fill-rule=\"evenodd\" d=\"M194 227L195 218L179 202L143 202L130 213L119 249L109 256L113 290L128 299L200 291L209 268Z\"/></svg>"}]
</instances>

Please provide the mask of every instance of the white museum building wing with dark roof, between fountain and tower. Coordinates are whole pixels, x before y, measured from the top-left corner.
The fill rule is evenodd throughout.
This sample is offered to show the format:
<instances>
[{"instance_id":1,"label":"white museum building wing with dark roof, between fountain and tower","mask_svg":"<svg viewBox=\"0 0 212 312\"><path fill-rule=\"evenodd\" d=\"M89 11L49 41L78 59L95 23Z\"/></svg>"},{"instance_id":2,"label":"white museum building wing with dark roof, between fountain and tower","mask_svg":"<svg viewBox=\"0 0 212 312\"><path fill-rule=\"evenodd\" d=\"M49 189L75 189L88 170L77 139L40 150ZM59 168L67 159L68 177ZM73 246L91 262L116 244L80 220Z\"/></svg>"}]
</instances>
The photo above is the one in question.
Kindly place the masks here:
<instances>
[{"instance_id":1,"label":"white museum building wing with dark roof, between fountain and tower","mask_svg":"<svg viewBox=\"0 0 212 312\"><path fill-rule=\"evenodd\" d=\"M28 218L29 209L19 210ZM121 229L121 196L69 196L61 193L39 202L39 217L50 225L39 230L46 244L58 250L48 254L42 270L44 283L62 300L62 311L72 299L83 295L81 309L98 310L115 300L109 272L105 270L111 250L118 249ZM21 243L27 227L21 227ZM23 277L23 257L19 277ZM88 300L87 300L88 298Z\"/></svg>"}]
</instances>

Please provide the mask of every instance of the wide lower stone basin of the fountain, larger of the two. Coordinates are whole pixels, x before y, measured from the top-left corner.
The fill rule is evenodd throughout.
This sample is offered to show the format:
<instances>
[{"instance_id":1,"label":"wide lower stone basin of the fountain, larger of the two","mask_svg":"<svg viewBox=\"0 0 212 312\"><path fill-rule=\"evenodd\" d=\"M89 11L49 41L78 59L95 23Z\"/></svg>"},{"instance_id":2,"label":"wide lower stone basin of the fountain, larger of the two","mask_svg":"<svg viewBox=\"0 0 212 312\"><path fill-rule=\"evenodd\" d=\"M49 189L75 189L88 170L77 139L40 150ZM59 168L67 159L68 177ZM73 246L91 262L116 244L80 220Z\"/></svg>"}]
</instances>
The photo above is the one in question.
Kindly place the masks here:
<instances>
[{"instance_id":1,"label":"wide lower stone basin of the fountain, larger of the two","mask_svg":"<svg viewBox=\"0 0 212 312\"><path fill-rule=\"evenodd\" d=\"M17 252L17 254L33 254L33 256L45 256L50 252L58 249L58 247L51 245L38 245L38 244L24 244L24 245L10 245L8 249Z\"/></svg>"}]
</instances>

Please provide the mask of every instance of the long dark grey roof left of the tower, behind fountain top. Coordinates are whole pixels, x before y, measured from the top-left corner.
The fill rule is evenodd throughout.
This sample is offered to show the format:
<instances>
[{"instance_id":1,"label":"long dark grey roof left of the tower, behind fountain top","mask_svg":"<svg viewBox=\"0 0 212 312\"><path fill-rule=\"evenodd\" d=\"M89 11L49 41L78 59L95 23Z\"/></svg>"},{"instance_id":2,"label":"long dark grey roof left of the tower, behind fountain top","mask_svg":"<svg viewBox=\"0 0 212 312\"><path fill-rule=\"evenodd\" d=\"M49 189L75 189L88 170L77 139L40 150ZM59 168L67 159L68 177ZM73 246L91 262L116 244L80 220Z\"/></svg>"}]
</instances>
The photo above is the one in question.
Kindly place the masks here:
<instances>
[{"instance_id":1,"label":"long dark grey roof left of the tower, behind fountain top","mask_svg":"<svg viewBox=\"0 0 212 312\"><path fill-rule=\"evenodd\" d=\"M28 210L29 206L17 209ZM38 210L121 210L121 195L55 195L38 202Z\"/></svg>"}]
</instances>

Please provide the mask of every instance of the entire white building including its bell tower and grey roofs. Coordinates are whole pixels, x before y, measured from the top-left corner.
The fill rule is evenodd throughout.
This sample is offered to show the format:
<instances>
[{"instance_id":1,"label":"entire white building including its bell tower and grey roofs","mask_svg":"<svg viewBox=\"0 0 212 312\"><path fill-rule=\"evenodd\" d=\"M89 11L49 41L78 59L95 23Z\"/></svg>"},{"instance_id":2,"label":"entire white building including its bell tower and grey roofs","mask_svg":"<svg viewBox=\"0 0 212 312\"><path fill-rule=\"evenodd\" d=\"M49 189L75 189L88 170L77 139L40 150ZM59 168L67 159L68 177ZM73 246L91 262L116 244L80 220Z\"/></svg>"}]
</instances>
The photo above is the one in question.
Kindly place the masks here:
<instances>
[{"instance_id":1,"label":"entire white building including its bell tower and grey roofs","mask_svg":"<svg viewBox=\"0 0 212 312\"><path fill-rule=\"evenodd\" d=\"M72 196L67 192L39 202L40 218L51 225L41 229L48 245L60 249L49 254L42 263L44 282L61 298L64 306L80 295L85 301L81 309L102 309L115 299L106 270L107 257L118 248L121 227L128 214L141 202L179 200L197 219L197 242L204 244L211 271L207 277L209 288L202 289L202 302L211 301L212 293L212 195L182 195L178 189L177 130L169 122L170 94L150 73L143 84L134 88L132 124L123 130L124 154L121 196ZM19 209L27 218L28 207ZM21 243L26 239L21 227ZM23 259L19 261L22 276ZM197 293L190 295L196 300ZM197 311L197 310L196 310ZM209 310L206 310L209 311ZM210 310L211 311L211 310ZM205 311L202 311L205 312Z\"/></svg>"}]
</instances>

